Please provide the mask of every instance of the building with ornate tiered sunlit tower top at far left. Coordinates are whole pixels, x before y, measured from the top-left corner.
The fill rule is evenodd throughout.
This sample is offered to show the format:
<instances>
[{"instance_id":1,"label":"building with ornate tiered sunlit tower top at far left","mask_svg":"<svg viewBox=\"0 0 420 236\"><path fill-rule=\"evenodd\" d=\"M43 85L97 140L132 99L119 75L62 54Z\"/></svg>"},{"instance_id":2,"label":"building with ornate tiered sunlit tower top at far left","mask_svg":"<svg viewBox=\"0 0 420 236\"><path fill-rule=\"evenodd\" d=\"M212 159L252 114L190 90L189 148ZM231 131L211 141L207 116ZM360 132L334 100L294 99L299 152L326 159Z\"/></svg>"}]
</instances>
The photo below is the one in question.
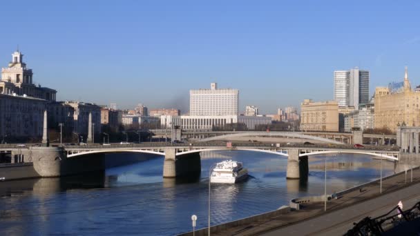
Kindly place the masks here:
<instances>
[{"instance_id":1,"label":"building with ornate tiered sunlit tower top at far left","mask_svg":"<svg viewBox=\"0 0 420 236\"><path fill-rule=\"evenodd\" d=\"M26 95L55 101L57 91L35 86L32 75L32 69L26 68L26 63L23 63L23 54L19 50L13 52L8 68L1 68L0 94Z\"/></svg>"}]
</instances>

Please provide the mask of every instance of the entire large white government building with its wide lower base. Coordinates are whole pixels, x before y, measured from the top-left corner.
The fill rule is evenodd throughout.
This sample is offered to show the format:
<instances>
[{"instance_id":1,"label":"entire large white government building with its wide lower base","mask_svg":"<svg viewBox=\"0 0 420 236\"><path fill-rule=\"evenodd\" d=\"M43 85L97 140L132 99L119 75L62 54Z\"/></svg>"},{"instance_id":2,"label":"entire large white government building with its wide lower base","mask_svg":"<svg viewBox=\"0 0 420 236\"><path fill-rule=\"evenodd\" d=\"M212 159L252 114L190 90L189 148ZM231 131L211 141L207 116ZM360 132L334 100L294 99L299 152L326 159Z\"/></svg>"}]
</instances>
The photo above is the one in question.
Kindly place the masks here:
<instances>
[{"instance_id":1,"label":"entire large white government building with its wide lower base","mask_svg":"<svg viewBox=\"0 0 420 236\"><path fill-rule=\"evenodd\" d=\"M180 126L182 130L212 130L227 124L245 124L249 130L271 124L271 117L238 115L239 90L218 89L211 83L210 89L190 90L191 115L162 115L162 128Z\"/></svg>"}]
</instances>

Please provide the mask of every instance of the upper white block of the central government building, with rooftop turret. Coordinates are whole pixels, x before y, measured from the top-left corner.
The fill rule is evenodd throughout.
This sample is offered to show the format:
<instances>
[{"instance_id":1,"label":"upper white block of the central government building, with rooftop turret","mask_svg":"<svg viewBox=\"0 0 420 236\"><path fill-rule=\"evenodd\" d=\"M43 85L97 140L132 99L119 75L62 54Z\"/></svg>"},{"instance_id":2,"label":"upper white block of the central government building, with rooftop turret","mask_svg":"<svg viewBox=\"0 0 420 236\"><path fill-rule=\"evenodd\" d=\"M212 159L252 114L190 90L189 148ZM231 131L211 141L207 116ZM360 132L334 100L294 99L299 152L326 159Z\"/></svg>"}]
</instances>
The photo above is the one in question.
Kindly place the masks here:
<instances>
[{"instance_id":1,"label":"upper white block of the central government building, with rooftop turret","mask_svg":"<svg viewBox=\"0 0 420 236\"><path fill-rule=\"evenodd\" d=\"M218 89L211 83L211 89L190 90L191 116L231 116L238 115L239 90Z\"/></svg>"}]
</instances>

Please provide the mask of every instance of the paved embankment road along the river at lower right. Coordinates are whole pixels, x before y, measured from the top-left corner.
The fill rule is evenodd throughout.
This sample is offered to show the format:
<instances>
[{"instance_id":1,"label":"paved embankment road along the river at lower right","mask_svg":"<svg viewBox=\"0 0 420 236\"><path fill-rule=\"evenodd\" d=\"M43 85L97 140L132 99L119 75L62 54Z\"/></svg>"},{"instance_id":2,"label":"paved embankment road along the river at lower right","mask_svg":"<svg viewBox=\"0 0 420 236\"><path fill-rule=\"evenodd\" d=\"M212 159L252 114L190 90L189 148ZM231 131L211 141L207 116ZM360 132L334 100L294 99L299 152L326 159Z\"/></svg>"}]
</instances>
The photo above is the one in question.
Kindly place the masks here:
<instances>
[{"instance_id":1,"label":"paved embankment road along the river at lower right","mask_svg":"<svg viewBox=\"0 0 420 236\"><path fill-rule=\"evenodd\" d=\"M380 184L375 183L343 195L339 199L324 204L306 204L302 210L293 211L270 219L253 222L246 226L229 228L224 232L212 235L343 235L363 217L376 217L388 213L401 200L404 209L420 201L420 170L413 171L413 182L410 183L410 171L401 173Z\"/></svg>"}]
</instances>

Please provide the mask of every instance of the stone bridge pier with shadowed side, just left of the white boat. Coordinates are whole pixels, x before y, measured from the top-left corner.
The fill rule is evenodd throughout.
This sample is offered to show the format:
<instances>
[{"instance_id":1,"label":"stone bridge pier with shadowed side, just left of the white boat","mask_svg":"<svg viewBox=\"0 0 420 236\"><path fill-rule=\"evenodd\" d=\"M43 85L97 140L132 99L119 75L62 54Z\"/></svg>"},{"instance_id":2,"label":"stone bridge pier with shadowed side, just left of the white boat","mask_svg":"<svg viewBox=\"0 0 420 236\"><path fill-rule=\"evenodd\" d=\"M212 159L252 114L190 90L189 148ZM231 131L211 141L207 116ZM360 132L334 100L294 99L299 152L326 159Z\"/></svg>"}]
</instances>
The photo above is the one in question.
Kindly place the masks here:
<instances>
[{"instance_id":1,"label":"stone bridge pier with shadowed side, just left of the white boat","mask_svg":"<svg viewBox=\"0 0 420 236\"><path fill-rule=\"evenodd\" d=\"M163 177L195 177L201 173L200 153L176 155L177 149L165 150Z\"/></svg>"}]
</instances>

